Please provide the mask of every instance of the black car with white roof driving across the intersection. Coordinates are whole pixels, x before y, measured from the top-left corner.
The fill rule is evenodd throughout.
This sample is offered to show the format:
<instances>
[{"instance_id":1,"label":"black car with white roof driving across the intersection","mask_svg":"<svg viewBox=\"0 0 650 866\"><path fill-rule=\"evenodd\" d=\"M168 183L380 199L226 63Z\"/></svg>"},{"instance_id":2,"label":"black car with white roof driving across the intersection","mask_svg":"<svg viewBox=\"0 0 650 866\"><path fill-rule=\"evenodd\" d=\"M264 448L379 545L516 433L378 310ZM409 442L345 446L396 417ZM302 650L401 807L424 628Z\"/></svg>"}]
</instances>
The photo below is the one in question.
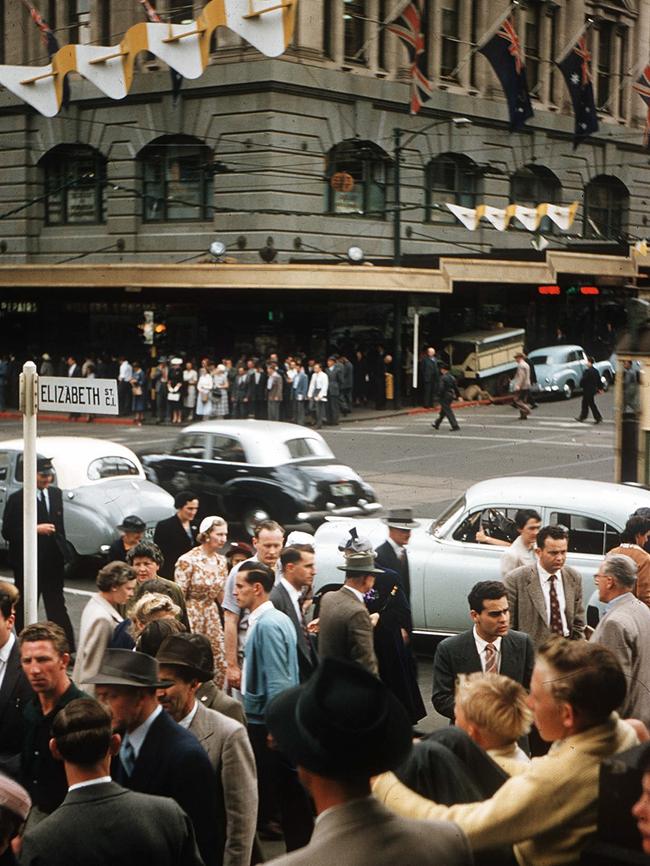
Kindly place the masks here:
<instances>
[{"instance_id":1,"label":"black car with white roof driving across the intersection","mask_svg":"<svg viewBox=\"0 0 650 866\"><path fill-rule=\"evenodd\" d=\"M220 514L249 533L269 517L316 525L327 515L381 510L372 487L298 424L203 421L186 427L169 453L141 459L151 481L170 493L194 491L202 515Z\"/></svg>"}]
</instances>

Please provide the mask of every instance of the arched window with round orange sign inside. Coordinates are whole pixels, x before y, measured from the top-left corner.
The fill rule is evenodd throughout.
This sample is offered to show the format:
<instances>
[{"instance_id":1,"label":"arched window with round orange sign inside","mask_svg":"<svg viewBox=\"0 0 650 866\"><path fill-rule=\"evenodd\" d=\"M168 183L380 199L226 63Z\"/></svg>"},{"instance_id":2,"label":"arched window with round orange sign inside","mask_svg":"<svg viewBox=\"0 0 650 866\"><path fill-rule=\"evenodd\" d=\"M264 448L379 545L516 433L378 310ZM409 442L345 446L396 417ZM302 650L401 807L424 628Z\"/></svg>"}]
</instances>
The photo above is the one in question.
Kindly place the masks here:
<instances>
[{"instance_id":1,"label":"arched window with round orange sign inside","mask_svg":"<svg viewBox=\"0 0 650 866\"><path fill-rule=\"evenodd\" d=\"M327 156L330 213L386 216L390 157L371 141L343 141Z\"/></svg>"}]
</instances>

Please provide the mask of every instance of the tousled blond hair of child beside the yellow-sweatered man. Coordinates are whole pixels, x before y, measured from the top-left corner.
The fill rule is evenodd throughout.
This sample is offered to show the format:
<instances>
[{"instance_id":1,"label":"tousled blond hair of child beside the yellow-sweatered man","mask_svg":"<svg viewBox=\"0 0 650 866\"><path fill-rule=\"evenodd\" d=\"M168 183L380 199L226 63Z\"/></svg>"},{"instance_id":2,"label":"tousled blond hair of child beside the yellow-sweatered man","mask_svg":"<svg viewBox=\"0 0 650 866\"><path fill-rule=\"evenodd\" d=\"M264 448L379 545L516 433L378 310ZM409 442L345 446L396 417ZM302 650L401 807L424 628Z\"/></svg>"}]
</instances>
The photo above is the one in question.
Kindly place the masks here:
<instances>
[{"instance_id":1,"label":"tousled blond hair of child beside the yellow-sweatered man","mask_svg":"<svg viewBox=\"0 0 650 866\"><path fill-rule=\"evenodd\" d=\"M470 724L513 743L528 733L533 720L526 694L510 677L479 672L459 677L456 705Z\"/></svg>"}]
</instances>

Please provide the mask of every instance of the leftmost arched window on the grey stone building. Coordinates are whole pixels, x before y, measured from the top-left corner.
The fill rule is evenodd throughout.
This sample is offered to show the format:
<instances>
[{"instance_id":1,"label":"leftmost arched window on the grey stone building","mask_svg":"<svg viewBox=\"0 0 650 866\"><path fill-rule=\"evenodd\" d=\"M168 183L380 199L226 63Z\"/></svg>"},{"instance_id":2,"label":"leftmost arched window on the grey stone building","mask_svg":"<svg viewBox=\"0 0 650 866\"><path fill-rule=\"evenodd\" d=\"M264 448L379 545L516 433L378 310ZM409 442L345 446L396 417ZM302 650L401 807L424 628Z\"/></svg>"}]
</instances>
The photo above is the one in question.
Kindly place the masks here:
<instances>
[{"instance_id":1,"label":"leftmost arched window on the grey stone building","mask_svg":"<svg viewBox=\"0 0 650 866\"><path fill-rule=\"evenodd\" d=\"M45 154L41 167L47 225L106 222L106 160L99 151L61 144Z\"/></svg>"}]
</instances>

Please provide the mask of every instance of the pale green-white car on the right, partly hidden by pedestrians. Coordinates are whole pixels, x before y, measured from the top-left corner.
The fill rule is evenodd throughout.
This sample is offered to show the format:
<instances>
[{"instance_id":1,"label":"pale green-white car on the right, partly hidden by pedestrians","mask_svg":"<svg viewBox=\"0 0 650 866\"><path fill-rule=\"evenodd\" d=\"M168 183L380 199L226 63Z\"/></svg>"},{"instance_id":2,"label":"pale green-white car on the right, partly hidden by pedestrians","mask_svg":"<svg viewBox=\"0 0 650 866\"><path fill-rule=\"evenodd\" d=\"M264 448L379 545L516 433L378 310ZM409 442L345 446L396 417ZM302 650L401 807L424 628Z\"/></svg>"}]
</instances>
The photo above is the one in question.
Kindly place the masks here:
<instances>
[{"instance_id":1,"label":"pale green-white car on the right, partly hidden by pedestrians","mask_svg":"<svg viewBox=\"0 0 650 866\"><path fill-rule=\"evenodd\" d=\"M519 508L534 508L542 523L569 530L568 565L583 579L585 605L604 554L616 547L632 512L650 507L650 491L570 478L493 478L470 487L437 520L420 520L408 546L411 605L416 632L453 634L468 628L467 595L479 580L500 580L503 547L476 541L479 528L504 540L516 537ZM386 536L380 520L329 519L315 535L315 588L340 583L338 545L352 526L377 547Z\"/></svg>"}]
</instances>

